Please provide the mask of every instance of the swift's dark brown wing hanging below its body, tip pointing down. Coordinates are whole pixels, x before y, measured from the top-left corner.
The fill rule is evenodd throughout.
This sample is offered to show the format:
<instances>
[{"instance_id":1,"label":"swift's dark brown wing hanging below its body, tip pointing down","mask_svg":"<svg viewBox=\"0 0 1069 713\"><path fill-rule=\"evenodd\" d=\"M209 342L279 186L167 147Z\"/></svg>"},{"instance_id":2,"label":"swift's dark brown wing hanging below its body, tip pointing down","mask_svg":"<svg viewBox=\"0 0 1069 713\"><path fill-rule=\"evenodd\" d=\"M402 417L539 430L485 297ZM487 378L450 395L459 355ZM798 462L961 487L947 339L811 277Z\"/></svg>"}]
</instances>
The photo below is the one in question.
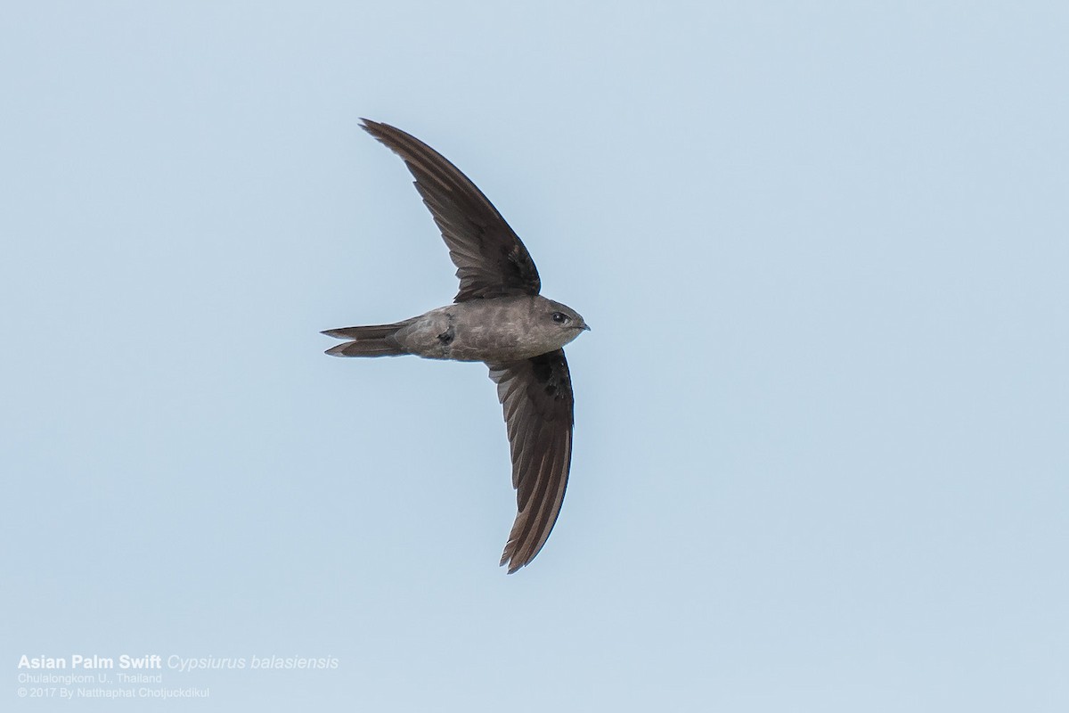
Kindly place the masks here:
<instances>
[{"instance_id":1,"label":"swift's dark brown wing hanging below its body, tip pointing down","mask_svg":"<svg viewBox=\"0 0 1069 713\"><path fill-rule=\"evenodd\" d=\"M490 365L512 448L518 513L501 555L509 574L538 555L557 522L572 465L572 379L564 351Z\"/></svg>"}]
</instances>

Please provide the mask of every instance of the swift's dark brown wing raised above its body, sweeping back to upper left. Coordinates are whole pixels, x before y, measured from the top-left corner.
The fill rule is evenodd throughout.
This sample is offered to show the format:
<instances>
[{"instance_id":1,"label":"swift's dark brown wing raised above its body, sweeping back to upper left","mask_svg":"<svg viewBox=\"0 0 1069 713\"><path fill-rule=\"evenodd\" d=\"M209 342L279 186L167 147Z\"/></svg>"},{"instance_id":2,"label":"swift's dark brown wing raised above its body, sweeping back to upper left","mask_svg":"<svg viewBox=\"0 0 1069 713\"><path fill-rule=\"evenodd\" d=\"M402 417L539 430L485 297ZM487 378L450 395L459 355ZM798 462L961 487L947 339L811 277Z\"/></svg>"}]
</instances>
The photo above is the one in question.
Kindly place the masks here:
<instances>
[{"instance_id":1,"label":"swift's dark brown wing raised above its body, sweeping back to upper left","mask_svg":"<svg viewBox=\"0 0 1069 713\"><path fill-rule=\"evenodd\" d=\"M466 175L419 139L368 119L363 129L404 159L456 265L454 301L537 295L538 269L520 237Z\"/></svg>"}]
</instances>

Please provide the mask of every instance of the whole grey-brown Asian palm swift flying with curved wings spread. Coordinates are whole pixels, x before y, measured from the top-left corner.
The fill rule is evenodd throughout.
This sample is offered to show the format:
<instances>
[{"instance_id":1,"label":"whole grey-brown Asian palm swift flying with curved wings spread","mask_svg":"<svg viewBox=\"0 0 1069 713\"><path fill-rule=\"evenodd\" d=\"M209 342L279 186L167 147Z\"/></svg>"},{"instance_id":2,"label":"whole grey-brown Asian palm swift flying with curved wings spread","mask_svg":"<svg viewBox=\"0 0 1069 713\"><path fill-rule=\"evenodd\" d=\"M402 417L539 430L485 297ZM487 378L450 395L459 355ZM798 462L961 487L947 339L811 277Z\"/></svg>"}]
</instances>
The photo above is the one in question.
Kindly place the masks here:
<instances>
[{"instance_id":1,"label":"whole grey-brown Asian palm swift flying with curved wings spread","mask_svg":"<svg viewBox=\"0 0 1069 713\"><path fill-rule=\"evenodd\" d=\"M389 124L363 129L401 157L434 216L461 289L448 307L410 320L327 329L343 357L400 356L482 361L512 454L516 520L501 555L509 574L545 544L564 499L572 463L572 379L563 346L590 327L578 312L539 295L527 248L482 191L441 154Z\"/></svg>"}]
</instances>

